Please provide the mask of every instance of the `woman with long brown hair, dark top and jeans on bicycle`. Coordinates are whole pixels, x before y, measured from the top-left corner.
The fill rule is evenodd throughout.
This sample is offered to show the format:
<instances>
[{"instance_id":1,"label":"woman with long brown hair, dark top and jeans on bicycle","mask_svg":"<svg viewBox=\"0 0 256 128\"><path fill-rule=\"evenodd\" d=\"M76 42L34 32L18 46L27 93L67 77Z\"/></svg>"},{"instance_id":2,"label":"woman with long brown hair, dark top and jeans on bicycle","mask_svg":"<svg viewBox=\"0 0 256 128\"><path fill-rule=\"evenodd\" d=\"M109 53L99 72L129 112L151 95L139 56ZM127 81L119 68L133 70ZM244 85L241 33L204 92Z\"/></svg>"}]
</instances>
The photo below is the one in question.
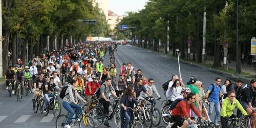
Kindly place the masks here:
<instances>
[{"instance_id":1,"label":"woman with long brown hair, dark top and jeans on bicycle","mask_svg":"<svg viewBox=\"0 0 256 128\"><path fill-rule=\"evenodd\" d=\"M133 117L133 112L131 110L127 110L127 107L134 108L134 104L136 105L136 108L138 107L137 101L134 96L134 87L128 86L126 91L121 96L120 104L121 104L121 110L120 110L120 116L121 116L121 122L124 123L124 128L127 128L128 124L131 127L131 118ZM124 122L125 117L125 122Z\"/></svg>"}]
</instances>

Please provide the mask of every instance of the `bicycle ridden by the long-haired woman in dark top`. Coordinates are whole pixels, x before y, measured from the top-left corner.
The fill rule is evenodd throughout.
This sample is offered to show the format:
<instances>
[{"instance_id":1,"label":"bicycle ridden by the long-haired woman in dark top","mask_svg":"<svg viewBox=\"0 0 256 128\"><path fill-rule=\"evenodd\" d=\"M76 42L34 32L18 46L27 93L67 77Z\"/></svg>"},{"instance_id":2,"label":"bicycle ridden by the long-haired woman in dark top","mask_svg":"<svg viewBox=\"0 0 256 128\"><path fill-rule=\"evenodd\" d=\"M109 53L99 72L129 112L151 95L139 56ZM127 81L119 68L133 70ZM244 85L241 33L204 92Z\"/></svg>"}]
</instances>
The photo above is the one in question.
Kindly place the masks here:
<instances>
[{"instance_id":1,"label":"bicycle ridden by the long-haired woman in dark top","mask_svg":"<svg viewBox=\"0 0 256 128\"><path fill-rule=\"evenodd\" d=\"M133 127L133 128L134 128L134 127L141 127L141 128L143 128L142 123L141 123L140 121L138 121L138 117L136 116L136 115L138 115L138 110L139 110L139 109L133 110L132 108L127 107L126 111L127 111L127 110L130 110L130 111L133 112L133 117L131 118L131 120L132 120L131 128L132 128L132 127ZM125 119L124 119L124 122L125 122ZM123 125L124 125L124 124L121 122L121 118L120 118L120 117L117 117L117 121L115 122L115 124L116 124L116 128L123 127Z\"/></svg>"}]
</instances>

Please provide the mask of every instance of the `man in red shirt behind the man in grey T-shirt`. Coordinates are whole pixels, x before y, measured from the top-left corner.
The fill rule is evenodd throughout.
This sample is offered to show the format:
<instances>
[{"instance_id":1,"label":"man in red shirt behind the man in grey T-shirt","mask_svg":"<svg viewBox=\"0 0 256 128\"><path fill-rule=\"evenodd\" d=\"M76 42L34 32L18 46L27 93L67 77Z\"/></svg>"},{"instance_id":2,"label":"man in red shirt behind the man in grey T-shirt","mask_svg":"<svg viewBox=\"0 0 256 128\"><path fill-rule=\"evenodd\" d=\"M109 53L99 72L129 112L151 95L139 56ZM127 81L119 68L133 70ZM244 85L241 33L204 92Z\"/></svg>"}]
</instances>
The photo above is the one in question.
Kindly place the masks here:
<instances>
[{"instance_id":1,"label":"man in red shirt behind the man in grey T-shirt","mask_svg":"<svg viewBox=\"0 0 256 128\"><path fill-rule=\"evenodd\" d=\"M93 79L93 81L90 81L87 83L87 87L86 87L86 91L85 91L85 94L86 94L85 100L88 102L88 104L87 104L87 113L88 114L89 114L91 103L92 103L92 97L95 94L96 88L100 88L100 84L97 82L98 77L93 76L92 79Z\"/></svg>"}]
</instances>

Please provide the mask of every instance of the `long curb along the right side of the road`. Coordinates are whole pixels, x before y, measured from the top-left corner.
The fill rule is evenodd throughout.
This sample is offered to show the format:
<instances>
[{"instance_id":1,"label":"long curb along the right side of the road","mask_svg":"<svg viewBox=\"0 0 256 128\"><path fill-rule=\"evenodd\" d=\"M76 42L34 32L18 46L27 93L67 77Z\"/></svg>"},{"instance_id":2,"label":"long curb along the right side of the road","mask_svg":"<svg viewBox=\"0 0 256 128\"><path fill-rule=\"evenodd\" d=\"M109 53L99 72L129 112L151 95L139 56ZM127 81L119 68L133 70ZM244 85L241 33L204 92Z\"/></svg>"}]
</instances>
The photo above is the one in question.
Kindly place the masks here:
<instances>
[{"instance_id":1,"label":"long curb along the right side of the road","mask_svg":"<svg viewBox=\"0 0 256 128\"><path fill-rule=\"evenodd\" d=\"M136 46L134 46L134 47L136 47ZM140 47L137 47L137 48L140 48ZM146 50L148 50L148 49L146 49ZM152 51L152 50L148 50L148 51ZM156 52L156 51L152 51L152 52L164 55L164 56L169 57L171 59L178 60L178 58L176 58L176 57L168 56L166 54L162 54L162 53L159 53L159 52ZM219 71L219 70L216 70L216 69L211 69L211 68L208 68L208 67L205 67L205 66L198 65L197 63L185 61L183 59L180 59L180 62L183 62L183 63L185 63L187 65L190 65L190 66L194 66L194 67L198 67L198 68L201 68L201 69L205 69L206 71L209 71L209 72L221 75L221 76L229 78L229 79L231 79L233 81L242 80L243 83L245 83L245 84L250 84L250 81L251 81L251 79L249 79L249 78L245 78L245 77L241 77L241 76L235 76L235 75L230 74L230 73L222 72L222 71Z\"/></svg>"}]
</instances>

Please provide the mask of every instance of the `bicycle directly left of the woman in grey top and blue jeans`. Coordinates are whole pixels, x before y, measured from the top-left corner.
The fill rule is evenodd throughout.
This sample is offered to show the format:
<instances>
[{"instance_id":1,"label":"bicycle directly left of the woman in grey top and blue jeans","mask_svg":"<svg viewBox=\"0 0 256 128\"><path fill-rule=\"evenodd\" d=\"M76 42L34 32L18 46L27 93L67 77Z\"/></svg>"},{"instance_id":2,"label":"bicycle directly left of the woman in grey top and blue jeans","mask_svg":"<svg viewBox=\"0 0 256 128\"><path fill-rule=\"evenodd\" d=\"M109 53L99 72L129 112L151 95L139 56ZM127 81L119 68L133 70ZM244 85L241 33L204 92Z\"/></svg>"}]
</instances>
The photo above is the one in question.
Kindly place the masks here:
<instances>
[{"instance_id":1,"label":"bicycle directly left of the woman in grey top and blue jeans","mask_svg":"<svg viewBox=\"0 0 256 128\"><path fill-rule=\"evenodd\" d=\"M58 97L58 93L53 93L53 92L49 92L51 94L53 94L53 97L49 97L50 102L47 106L47 111L45 112L45 100L44 102L42 102L43 105L41 105L41 110L43 111L43 115L47 116L49 114L49 111L52 110L52 113L54 115L54 117L58 117L61 113L61 105L57 99Z\"/></svg>"}]
</instances>

